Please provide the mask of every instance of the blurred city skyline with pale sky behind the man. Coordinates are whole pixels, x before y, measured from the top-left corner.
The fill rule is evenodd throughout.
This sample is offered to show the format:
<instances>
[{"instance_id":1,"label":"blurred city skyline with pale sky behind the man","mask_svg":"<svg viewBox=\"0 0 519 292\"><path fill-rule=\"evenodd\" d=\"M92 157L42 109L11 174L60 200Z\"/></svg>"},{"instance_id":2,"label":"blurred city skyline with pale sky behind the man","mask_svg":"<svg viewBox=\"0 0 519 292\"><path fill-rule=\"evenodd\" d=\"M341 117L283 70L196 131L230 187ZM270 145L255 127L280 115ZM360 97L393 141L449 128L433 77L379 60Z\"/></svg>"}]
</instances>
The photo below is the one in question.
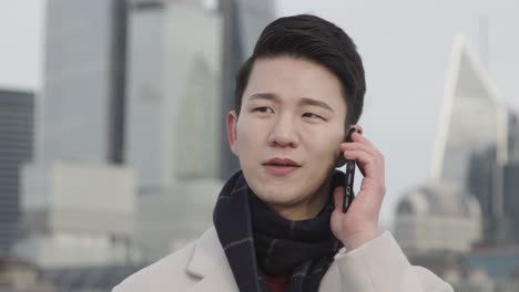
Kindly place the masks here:
<instances>
[{"instance_id":1,"label":"blurred city skyline with pale sky behind the man","mask_svg":"<svg viewBox=\"0 0 519 292\"><path fill-rule=\"evenodd\" d=\"M517 291L519 42L503 49L499 29L513 6L462 1L0 3L0 279L109 291L214 225L238 167L234 71L269 17L313 13L364 60L359 124L386 157L380 230L457 291Z\"/></svg>"}]
</instances>

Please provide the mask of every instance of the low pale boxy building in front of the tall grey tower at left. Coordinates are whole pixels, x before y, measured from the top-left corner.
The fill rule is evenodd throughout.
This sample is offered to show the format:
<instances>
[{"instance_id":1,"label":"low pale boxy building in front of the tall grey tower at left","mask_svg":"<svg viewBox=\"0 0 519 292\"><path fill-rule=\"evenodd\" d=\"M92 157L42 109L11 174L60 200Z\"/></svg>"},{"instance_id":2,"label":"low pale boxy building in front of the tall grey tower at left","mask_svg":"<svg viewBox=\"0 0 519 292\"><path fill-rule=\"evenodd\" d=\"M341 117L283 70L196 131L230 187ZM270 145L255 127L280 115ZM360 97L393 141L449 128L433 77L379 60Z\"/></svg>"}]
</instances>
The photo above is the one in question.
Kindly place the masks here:
<instances>
[{"instance_id":1,"label":"low pale boxy building in front of the tall grey tower at left","mask_svg":"<svg viewBox=\"0 0 519 292\"><path fill-rule=\"evenodd\" d=\"M22 169L19 258L41 268L123 264L140 259L135 179L123 166L53 163Z\"/></svg>"}]
</instances>

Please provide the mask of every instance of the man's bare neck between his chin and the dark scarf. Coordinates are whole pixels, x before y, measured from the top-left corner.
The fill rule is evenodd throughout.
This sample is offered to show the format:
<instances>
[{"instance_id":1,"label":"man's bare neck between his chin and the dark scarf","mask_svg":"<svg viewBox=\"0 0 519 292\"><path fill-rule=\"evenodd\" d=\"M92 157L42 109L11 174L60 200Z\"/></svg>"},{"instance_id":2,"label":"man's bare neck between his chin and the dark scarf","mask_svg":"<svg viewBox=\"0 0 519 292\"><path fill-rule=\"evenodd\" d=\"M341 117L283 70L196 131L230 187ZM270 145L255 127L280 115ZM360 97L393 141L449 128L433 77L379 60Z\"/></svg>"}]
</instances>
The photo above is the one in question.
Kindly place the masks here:
<instances>
[{"instance_id":1,"label":"man's bare neck between his chin and the dark scarf","mask_svg":"<svg viewBox=\"0 0 519 292\"><path fill-rule=\"evenodd\" d=\"M319 213L328 200L330 187L332 184L328 179L317 189L317 191L305 198L303 201L298 201L294 205L276 205L267 202L267 206L278 216L292 221L312 219Z\"/></svg>"}]
</instances>

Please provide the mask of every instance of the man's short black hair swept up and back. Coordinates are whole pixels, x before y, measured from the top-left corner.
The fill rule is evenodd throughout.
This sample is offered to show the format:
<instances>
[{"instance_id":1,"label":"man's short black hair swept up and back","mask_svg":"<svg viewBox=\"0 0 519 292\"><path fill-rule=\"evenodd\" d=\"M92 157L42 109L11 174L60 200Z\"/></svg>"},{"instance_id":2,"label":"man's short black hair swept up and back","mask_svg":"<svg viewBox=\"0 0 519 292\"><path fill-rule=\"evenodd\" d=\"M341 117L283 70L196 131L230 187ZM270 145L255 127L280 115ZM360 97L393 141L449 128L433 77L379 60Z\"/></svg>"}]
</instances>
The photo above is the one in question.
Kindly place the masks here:
<instances>
[{"instance_id":1,"label":"man's short black hair swept up and back","mask_svg":"<svg viewBox=\"0 0 519 292\"><path fill-rule=\"evenodd\" d=\"M346 126L363 112L366 81L363 61L352 39L337 25L308 14L279 18L260 35L253 54L236 74L235 111L240 114L243 92L257 59L289 55L320 64L340 81L347 105Z\"/></svg>"}]
</instances>

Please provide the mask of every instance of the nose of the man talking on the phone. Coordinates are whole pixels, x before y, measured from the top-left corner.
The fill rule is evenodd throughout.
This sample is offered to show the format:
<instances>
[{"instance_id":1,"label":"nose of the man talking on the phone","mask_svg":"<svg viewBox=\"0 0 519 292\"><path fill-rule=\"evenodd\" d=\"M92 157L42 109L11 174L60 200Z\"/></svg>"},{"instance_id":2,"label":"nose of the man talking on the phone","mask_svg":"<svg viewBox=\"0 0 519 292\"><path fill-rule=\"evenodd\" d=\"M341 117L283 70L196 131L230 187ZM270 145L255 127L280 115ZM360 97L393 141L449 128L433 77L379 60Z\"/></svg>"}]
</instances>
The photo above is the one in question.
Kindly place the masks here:
<instances>
[{"instance_id":1,"label":"nose of the man talking on the phone","mask_svg":"<svg viewBox=\"0 0 519 292\"><path fill-rule=\"evenodd\" d=\"M268 144L271 146L293 148L299 145L297 125L288 115L277 118L268 136Z\"/></svg>"}]
</instances>

